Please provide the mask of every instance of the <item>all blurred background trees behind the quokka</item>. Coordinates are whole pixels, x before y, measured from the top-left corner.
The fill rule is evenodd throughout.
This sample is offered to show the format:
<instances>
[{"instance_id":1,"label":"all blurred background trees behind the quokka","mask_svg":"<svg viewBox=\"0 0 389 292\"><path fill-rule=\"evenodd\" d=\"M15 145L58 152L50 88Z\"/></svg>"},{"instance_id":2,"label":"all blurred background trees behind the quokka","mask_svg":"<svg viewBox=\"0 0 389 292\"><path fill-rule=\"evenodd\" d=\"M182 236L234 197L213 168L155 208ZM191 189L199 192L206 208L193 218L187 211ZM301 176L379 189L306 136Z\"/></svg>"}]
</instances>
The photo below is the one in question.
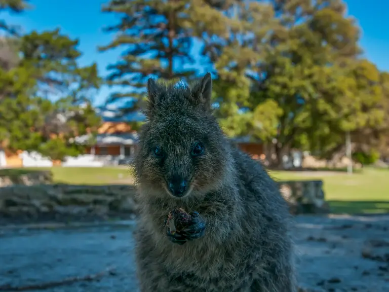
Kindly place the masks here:
<instances>
[{"instance_id":1,"label":"all blurred background trees behind the quokka","mask_svg":"<svg viewBox=\"0 0 389 292\"><path fill-rule=\"evenodd\" d=\"M26 7L0 0L0 19ZM102 13L118 17L99 50L121 51L104 78L96 64L78 65L79 41L60 29L23 35L0 22L0 141L76 155L71 138L100 123L92 103L102 82L124 115L142 108L149 77L191 82L210 71L226 134L261 139L276 165L292 149L344 153L347 133L355 159L389 156L389 74L364 59L340 0L111 0Z\"/></svg>"}]
</instances>

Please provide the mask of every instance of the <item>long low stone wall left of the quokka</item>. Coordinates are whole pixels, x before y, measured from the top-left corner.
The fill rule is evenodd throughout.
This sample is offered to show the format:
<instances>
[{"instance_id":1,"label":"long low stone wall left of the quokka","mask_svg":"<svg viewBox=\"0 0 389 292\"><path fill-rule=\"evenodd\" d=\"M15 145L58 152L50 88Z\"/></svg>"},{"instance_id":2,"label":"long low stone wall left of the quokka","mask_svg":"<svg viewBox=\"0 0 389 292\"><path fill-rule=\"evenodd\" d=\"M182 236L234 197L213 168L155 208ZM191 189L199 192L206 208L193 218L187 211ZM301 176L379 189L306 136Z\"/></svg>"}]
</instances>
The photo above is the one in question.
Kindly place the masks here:
<instances>
[{"instance_id":1,"label":"long low stone wall left of the quokka","mask_svg":"<svg viewBox=\"0 0 389 292\"><path fill-rule=\"evenodd\" d=\"M0 218L8 221L98 220L133 217L135 187L36 185L0 189Z\"/></svg>"}]
</instances>

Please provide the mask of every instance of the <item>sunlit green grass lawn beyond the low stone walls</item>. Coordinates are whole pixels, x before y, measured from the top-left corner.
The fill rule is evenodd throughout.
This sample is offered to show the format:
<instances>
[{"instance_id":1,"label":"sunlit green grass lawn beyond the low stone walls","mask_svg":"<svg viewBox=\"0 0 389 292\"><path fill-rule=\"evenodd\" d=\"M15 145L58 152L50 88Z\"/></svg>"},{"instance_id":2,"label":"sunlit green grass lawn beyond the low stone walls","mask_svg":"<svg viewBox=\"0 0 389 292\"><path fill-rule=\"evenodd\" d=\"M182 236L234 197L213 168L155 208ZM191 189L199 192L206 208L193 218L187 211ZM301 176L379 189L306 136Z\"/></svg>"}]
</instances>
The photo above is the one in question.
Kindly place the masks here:
<instances>
[{"instance_id":1,"label":"sunlit green grass lawn beyond the low stone walls","mask_svg":"<svg viewBox=\"0 0 389 292\"><path fill-rule=\"evenodd\" d=\"M128 167L52 167L3 169L0 175L51 170L54 182L82 185L133 184ZM322 179L326 200L335 213L389 213L389 170L364 168L345 172L269 171L276 180Z\"/></svg>"}]
</instances>

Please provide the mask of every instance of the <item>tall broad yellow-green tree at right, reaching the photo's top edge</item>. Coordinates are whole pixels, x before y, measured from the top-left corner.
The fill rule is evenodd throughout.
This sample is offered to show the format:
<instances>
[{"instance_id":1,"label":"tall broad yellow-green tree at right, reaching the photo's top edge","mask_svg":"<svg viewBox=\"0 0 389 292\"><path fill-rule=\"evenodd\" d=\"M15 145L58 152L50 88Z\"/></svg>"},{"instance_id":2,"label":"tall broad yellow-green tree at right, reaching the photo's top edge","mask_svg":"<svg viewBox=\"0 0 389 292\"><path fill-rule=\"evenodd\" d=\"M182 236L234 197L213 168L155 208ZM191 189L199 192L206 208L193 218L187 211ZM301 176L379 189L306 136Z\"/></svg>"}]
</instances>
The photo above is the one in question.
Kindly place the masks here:
<instances>
[{"instance_id":1,"label":"tall broad yellow-green tree at right, reaching the photo's top edge","mask_svg":"<svg viewBox=\"0 0 389 292\"><path fill-rule=\"evenodd\" d=\"M258 67L266 74L257 88L259 100L272 98L283 110L274 144L280 164L290 148L323 147L318 142L328 131L326 109L333 108L343 69L360 49L358 28L344 16L341 1L274 1L274 9L280 26Z\"/></svg>"}]
</instances>

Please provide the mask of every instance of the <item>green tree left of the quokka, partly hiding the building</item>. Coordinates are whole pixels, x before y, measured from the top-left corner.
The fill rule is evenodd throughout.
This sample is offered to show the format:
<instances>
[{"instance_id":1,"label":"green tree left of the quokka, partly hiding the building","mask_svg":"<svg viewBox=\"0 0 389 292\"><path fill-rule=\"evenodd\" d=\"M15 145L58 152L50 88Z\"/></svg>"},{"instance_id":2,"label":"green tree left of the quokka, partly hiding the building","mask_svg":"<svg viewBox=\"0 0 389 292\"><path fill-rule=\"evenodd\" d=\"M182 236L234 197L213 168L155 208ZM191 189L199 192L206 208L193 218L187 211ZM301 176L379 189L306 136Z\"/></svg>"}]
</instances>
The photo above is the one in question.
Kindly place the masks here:
<instances>
[{"instance_id":1,"label":"green tree left of the quokka, partly hiding the building","mask_svg":"<svg viewBox=\"0 0 389 292\"><path fill-rule=\"evenodd\" d=\"M96 133L100 119L91 92L101 83L97 66L80 67L79 41L59 29L22 36L19 64L0 71L0 141L10 150L40 151L55 159L84 147L74 137ZM48 97L57 97L51 101ZM59 143L62 146L59 146Z\"/></svg>"}]
</instances>

